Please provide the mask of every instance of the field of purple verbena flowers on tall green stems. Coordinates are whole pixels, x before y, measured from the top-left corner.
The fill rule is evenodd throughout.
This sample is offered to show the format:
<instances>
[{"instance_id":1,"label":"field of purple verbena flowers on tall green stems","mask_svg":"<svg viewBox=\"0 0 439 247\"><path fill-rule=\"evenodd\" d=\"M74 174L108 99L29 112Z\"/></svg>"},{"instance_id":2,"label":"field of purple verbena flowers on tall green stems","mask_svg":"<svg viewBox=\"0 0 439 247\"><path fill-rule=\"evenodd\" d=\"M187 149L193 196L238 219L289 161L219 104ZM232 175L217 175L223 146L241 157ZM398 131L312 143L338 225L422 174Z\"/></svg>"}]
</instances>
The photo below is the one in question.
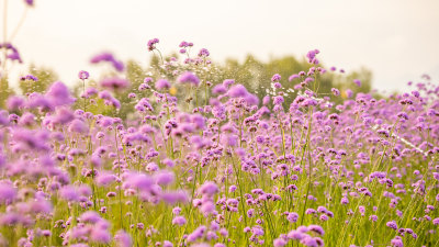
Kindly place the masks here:
<instances>
[{"instance_id":1,"label":"field of purple verbena flowers on tall green stems","mask_svg":"<svg viewBox=\"0 0 439 247\"><path fill-rule=\"evenodd\" d=\"M315 49L311 69L289 78L296 93L273 75L260 102L239 80L206 81L207 49L180 48L183 61L161 66L177 79L145 78L126 120L87 111L115 112L130 88L109 53L91 63L111 65L112 76L87 87L93 75L80 71L79 99L59 81L8 99L1 246L439 245L438 86L385 99L334 88L335 103L318 92L335 68L319 67Z\"/></svg>"}]
</instances>

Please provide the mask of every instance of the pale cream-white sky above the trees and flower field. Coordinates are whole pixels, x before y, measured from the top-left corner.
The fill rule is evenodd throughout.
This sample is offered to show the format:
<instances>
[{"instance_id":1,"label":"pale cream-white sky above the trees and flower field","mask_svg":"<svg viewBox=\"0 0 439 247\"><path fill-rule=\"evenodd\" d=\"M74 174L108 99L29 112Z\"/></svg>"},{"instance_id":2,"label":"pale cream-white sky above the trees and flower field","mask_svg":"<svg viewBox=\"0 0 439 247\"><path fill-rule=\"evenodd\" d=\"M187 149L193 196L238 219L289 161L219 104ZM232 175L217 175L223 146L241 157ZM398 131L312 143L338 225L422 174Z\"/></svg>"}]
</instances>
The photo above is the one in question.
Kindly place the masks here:
<instances>
[{"instance_id":1,"label":"pale cream-white sky above the trees and flower field","mask_svg":"<svg viewBox=\"0 0 439 247\"><path fill-rule=\"evenodd\" d=\"M9 33L23 10L23 0L9 0ZM52 67L71 85L79 70L93 71L88 61L102 50L146 64L153 37L165 54L184 40L216 61L318 48L327 66L371 69L380 91L423 74L439 80L438 0L35 0L12 43L25 63Z\"/></svg>"}]
</instances>

